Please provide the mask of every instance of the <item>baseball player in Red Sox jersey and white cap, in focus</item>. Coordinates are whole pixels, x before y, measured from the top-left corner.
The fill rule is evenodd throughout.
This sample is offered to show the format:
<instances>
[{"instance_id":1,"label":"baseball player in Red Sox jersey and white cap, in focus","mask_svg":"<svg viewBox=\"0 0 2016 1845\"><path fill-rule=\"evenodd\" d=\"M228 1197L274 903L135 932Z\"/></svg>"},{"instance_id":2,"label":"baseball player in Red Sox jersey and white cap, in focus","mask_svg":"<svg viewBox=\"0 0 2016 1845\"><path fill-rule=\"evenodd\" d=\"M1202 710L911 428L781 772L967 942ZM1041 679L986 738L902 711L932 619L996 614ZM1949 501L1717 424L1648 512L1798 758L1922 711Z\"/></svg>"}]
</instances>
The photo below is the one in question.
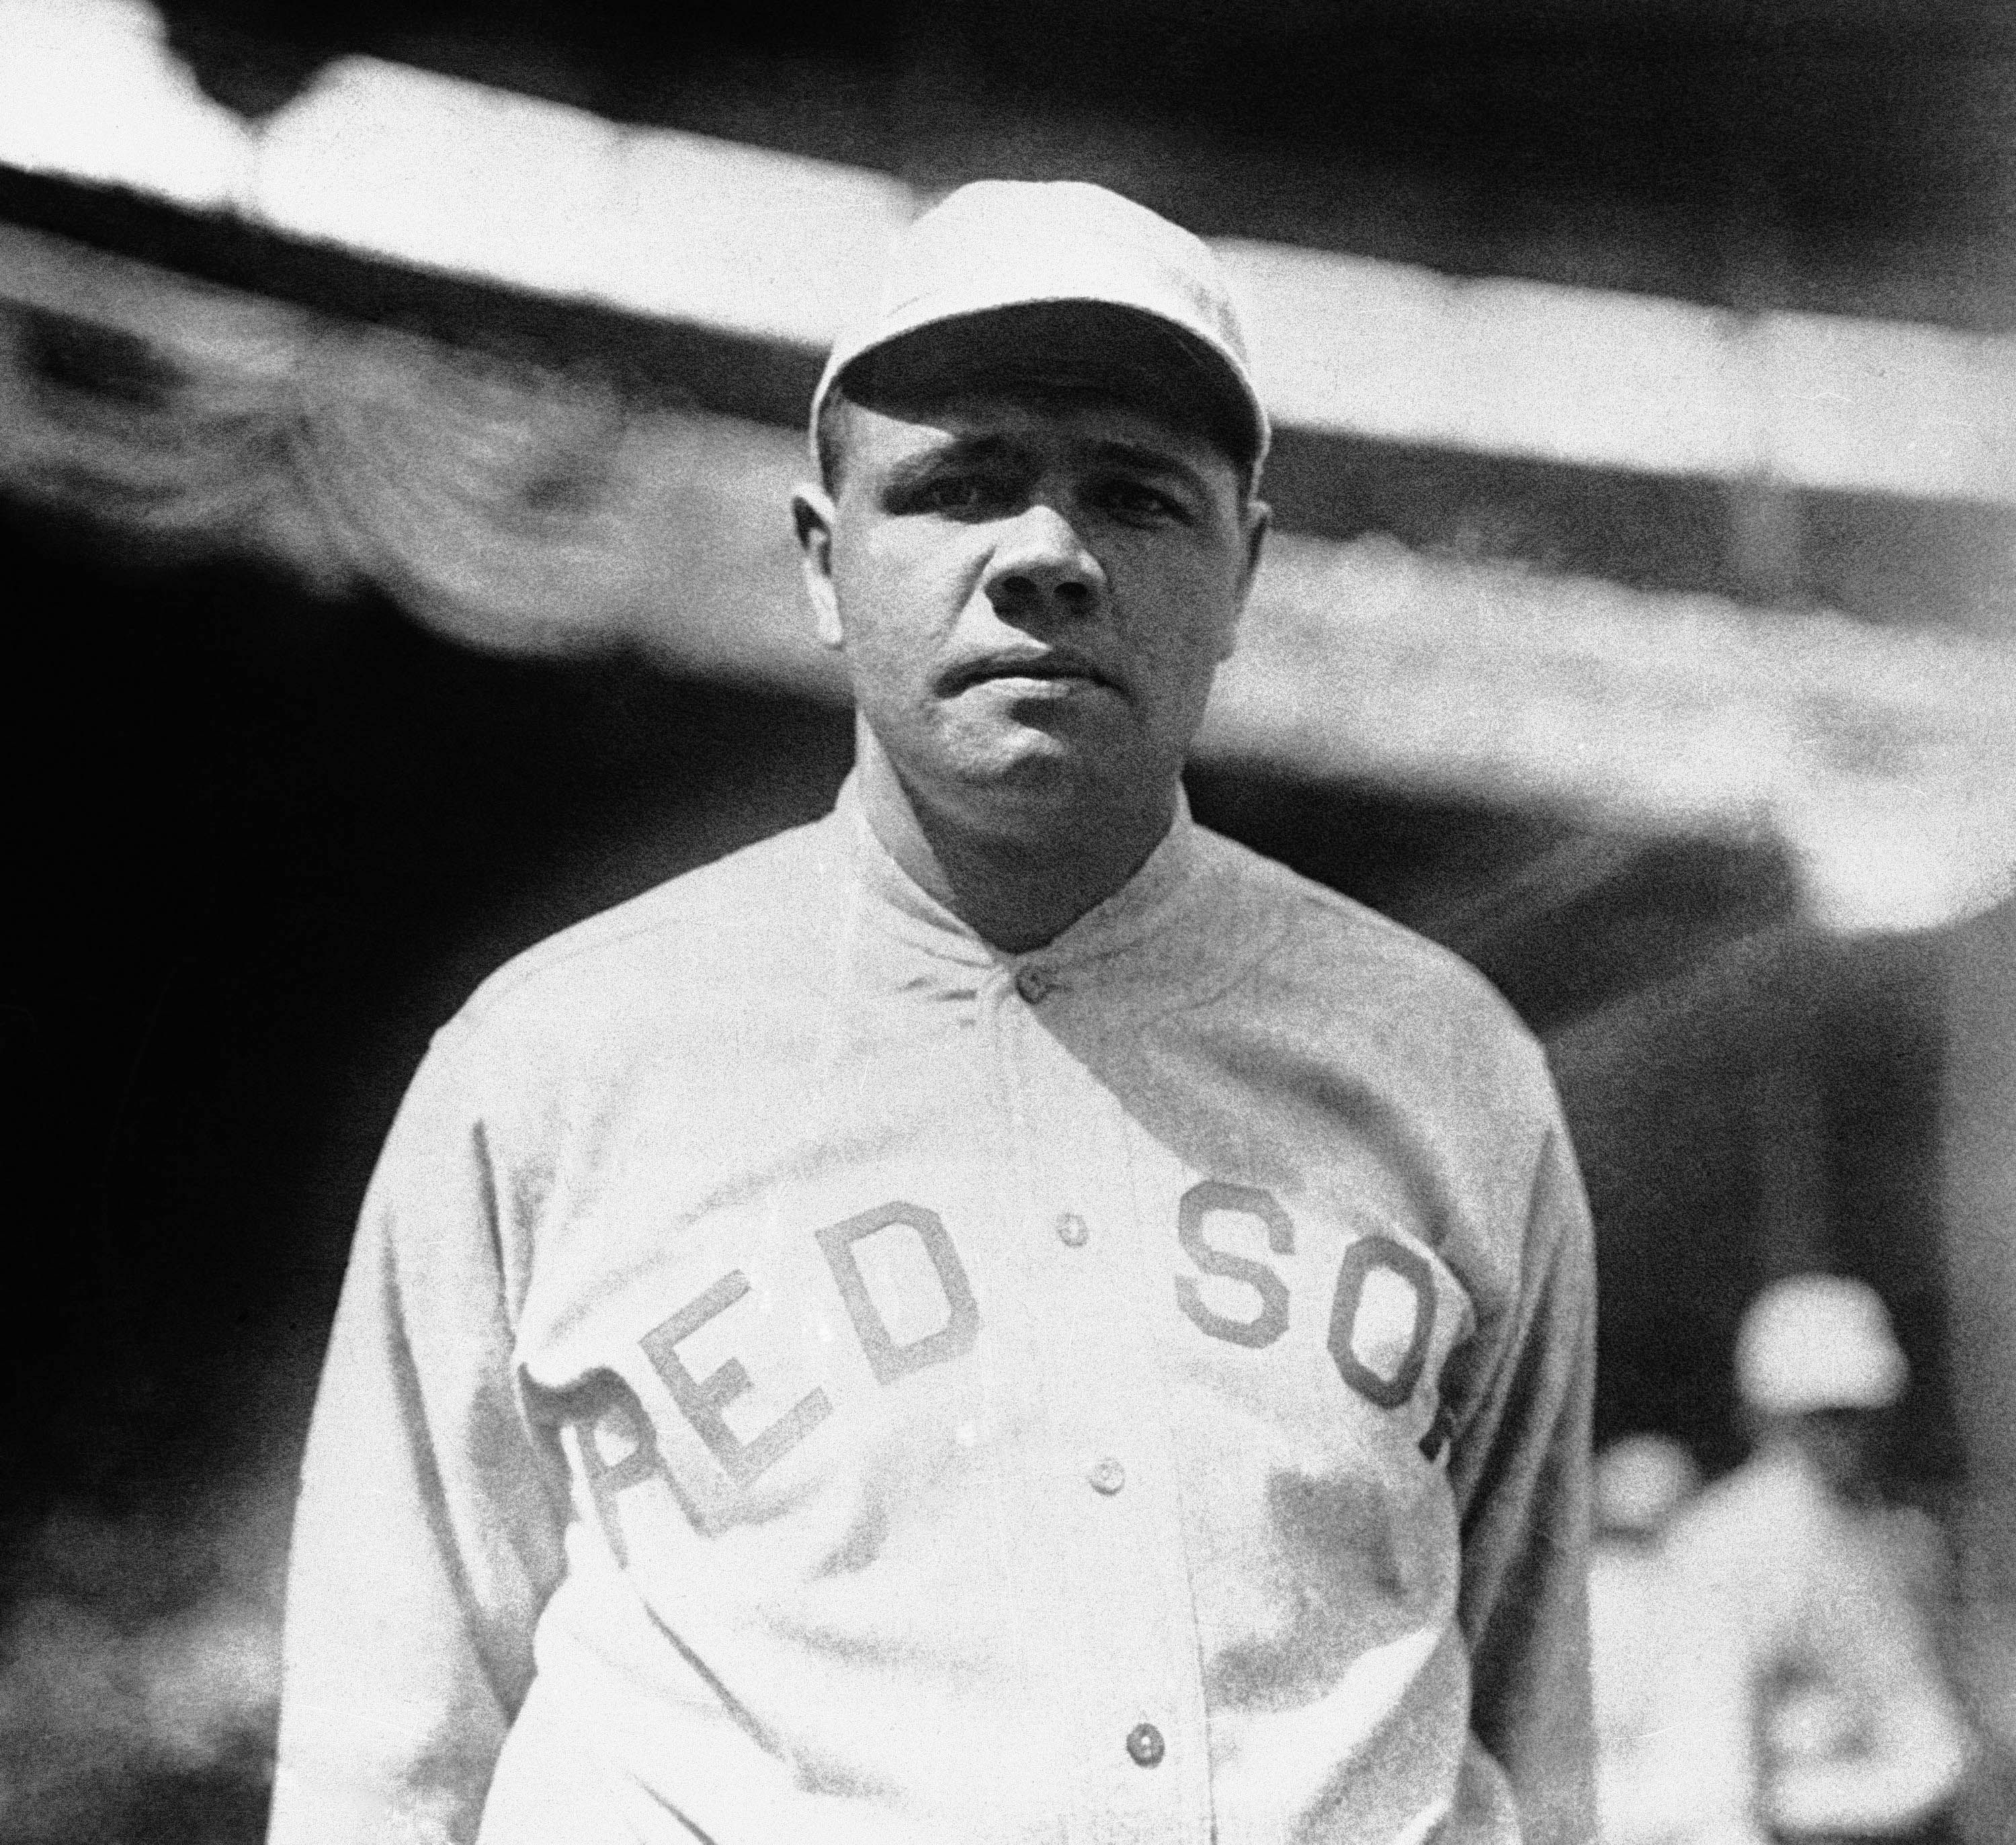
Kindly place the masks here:
<instances>
[{"instance_id":1,"label":"baseball player in Red Sox jersey and white cap, in focus","mask_svg":"<svg viewBox=\"0 0 2016 1845\"><path fill-rule=\"evenodd\" d=\"M308 1442L272 1839L1585 1841L1542 1057L1181 794L1266 530L1210 252L964 188L812 436L855 772L437 1036Z\"/></svg>"}]
</instances>

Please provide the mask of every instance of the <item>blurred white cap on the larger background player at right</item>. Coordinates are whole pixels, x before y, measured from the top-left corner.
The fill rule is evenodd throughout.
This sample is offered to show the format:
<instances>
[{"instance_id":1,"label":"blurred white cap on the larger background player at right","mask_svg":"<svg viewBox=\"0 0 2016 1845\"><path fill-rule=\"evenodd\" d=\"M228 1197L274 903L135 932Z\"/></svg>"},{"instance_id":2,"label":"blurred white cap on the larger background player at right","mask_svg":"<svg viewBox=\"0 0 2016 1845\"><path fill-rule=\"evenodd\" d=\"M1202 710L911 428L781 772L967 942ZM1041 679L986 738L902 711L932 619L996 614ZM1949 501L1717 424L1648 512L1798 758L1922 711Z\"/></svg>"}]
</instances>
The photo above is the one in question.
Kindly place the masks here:
<instances>
[{"instance_id":1,"label":"blurred white cap on the larger background player at right","mask_svg":"<svg viewBox=\"0 0 2016 1845\"><path fill-rule=\"evenodd\" d=\"M1907 1379L1881 1297L1845 1274L1772 1282L1736 1331L1736 1389L1766 1416L1887 1409Z\"/></svg>"}]
</instances>

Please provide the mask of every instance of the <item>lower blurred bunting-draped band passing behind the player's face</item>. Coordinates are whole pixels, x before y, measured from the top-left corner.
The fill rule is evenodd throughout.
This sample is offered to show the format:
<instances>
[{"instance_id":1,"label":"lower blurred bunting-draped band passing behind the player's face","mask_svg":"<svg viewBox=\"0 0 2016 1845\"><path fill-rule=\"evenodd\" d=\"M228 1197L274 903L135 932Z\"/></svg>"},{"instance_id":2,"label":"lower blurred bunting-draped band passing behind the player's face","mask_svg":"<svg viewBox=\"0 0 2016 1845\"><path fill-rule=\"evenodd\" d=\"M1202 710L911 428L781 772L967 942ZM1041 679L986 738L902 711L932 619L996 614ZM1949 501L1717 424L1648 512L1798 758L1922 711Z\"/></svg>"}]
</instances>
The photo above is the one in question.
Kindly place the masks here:
<instances>
[{"instance_id":1,"label":"lower blurred bunting-draped band passing behind the player's face","mask_svg":"<svg viewBox=\"0 0 2016 1845\"><path fill-rule=\"evenodd\" d=\"M786 516L802 438L0 228L0 490L123 555L371 585L470 645L629 645L845 702ZM1278 534L1200 758L1776 839L1816 919L2016 865L2016 653L1824 611Z\"/></svg>"}]
</instances>

